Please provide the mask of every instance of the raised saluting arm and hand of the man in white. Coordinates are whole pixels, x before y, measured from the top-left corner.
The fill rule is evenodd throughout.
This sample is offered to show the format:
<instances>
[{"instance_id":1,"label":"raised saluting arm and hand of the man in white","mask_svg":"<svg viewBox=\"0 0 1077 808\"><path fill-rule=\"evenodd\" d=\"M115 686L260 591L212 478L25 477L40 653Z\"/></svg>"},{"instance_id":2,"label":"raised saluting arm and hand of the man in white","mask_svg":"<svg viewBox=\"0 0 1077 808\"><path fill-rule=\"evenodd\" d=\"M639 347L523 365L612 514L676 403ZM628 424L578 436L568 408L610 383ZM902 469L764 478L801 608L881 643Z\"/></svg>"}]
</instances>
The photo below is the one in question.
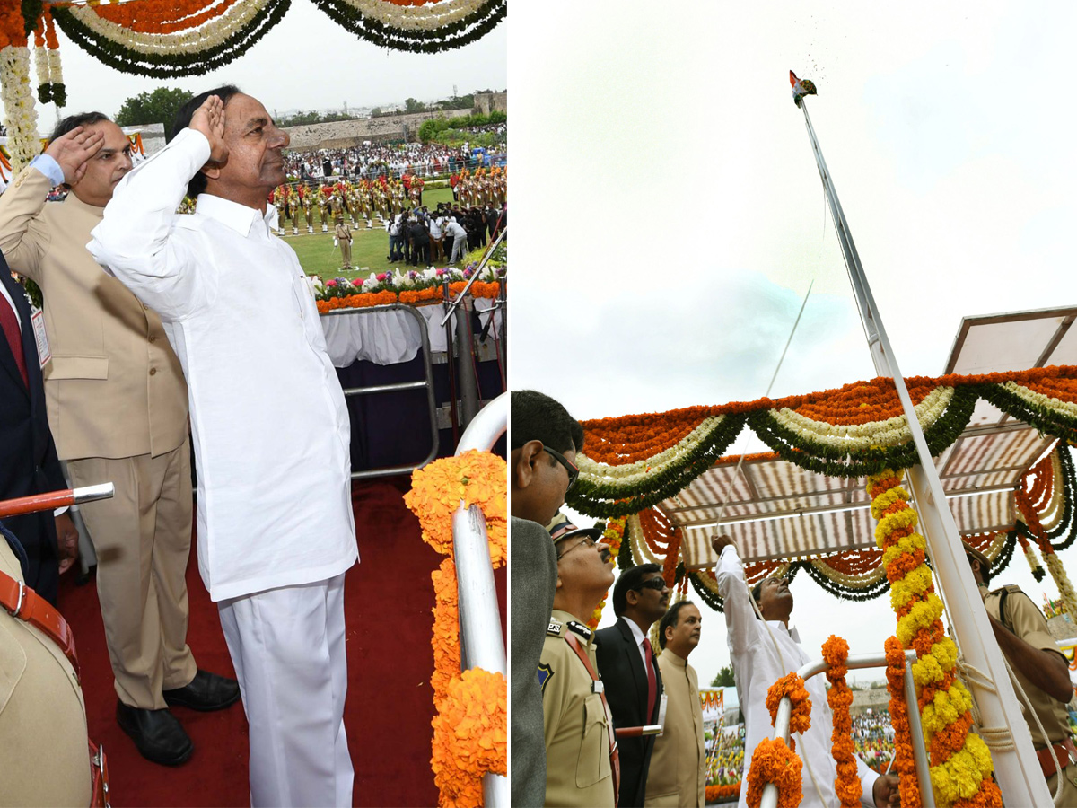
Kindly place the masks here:
<instances>
[{"instance_id":1,"label":"raised saluting arm and hand of the man in white","mask_svg":"<svg viewBox=\"0 0 1077 808\"><path fill-rule=\"evenodd\" d=\"M213 291L172 229L191 178L210 161L227 159L223 133L223 105L211 96L188 128L124 177L86 245L97 263L166 321L188 317Z\"/></svg>"}]
</instances>

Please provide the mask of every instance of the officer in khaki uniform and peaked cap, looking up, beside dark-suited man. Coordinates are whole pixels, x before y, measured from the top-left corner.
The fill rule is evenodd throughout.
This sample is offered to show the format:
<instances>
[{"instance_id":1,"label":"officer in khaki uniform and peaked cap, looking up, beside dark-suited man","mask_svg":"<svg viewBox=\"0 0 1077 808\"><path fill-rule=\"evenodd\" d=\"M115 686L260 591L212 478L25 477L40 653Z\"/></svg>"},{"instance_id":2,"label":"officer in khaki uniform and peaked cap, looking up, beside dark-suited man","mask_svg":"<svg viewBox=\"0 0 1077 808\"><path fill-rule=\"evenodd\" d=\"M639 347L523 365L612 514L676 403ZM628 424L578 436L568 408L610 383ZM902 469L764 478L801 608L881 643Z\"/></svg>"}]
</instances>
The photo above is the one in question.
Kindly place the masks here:
<instances>
[{"instance_id":1,"label":"officer in khaki uniform and peaked cap, looking up, beside dark-suited man","mask_svg":"<svg viewBox=\"0 0 1077 808\"><path fill-rule=\"evenodd\" d=\"M613 583L602 531L579 530L562 514L550 528L557 589L538 664L546 736L546 805L616 805L612 726L585 625ZM581 657L585 653L589 666Z\"/></svg>"}]
</instances>

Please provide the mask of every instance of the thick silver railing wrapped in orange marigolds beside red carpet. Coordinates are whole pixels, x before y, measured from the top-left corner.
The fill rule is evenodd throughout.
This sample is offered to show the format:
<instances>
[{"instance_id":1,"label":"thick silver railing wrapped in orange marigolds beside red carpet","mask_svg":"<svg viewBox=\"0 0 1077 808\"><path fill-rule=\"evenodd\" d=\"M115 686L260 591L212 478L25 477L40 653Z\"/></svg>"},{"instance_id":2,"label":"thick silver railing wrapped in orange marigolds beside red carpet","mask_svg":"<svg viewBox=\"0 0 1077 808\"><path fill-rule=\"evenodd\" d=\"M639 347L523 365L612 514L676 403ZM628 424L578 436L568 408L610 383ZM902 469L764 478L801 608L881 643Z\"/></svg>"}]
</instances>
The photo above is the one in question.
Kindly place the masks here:
<instances>
[{"instance_id":1,"label":"thick silver railing wrapped in orange marigolds beside red carpet","mask_svg":"<svg viewBox=\"0 0 1077 808\"><path fill-rule=\"evenodd\" d=\"M468 449L489 451L507 427L508 393L504 392L482 407L467 426L457 446L457 455ZM476 505L465 509L461 504L452 515L452 547L460 600L460 667L463 670L482 668L505 675L505 640L493 584L486 517ZM501 775L484 777L482 797L487 808L507 808L508 778Z\"/></svg>"}]
</instances>

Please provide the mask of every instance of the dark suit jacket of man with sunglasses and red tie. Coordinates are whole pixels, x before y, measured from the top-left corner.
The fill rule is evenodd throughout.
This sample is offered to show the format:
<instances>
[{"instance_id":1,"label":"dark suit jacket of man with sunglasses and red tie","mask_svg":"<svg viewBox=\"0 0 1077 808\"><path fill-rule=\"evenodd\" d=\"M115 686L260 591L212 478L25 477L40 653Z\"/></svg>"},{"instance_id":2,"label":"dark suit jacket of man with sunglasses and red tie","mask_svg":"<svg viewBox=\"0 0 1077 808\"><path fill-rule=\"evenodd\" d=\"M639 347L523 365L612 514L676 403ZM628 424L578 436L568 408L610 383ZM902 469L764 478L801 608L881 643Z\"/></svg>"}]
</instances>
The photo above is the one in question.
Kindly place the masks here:
<instances>
[{"instance_id":1,"label":"dark suit jacket of man with sunglasses and red tie","mask_svg":"<svg viewBox=\"0 0 1077 808\"><path fill-rule=\"evenodd\" d=\"M613 713L615 727L643 726L658 721L659 705L662 695L662 677L658 672L658 657L651 652L651 663L658 680L658 693L655 697L655 709L651 715L647 711L647 672L643 669L640 650L632 637L632 629L624 617L599 630L597 636L596 656L599 673L605 686L606 701ZM647 790L647 767L651 766L651 753L655 749L655 736L646 738L618 738L620 749L620 799L618 808L626 806L642 806Z\"/></svg>"}]
</instances>

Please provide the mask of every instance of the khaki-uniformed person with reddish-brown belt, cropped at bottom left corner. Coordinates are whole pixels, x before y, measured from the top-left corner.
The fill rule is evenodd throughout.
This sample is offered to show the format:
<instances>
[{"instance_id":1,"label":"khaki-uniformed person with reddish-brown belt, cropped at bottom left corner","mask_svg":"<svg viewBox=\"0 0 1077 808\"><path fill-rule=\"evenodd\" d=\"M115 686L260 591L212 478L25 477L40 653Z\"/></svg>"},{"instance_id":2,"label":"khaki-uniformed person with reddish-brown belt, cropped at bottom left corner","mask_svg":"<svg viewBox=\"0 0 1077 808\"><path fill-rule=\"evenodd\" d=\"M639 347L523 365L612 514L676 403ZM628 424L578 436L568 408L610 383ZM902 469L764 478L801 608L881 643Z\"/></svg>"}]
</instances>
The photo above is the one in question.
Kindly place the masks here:
<instances>
[{"instance_id":1,"label":"khaki-uniformed person with reddish-brown belt, cropped at bottom left corner","mask_svg":"<svg viewBox=\"0 0 1077 808\"><path fill-rule=\"evenodd\" d=\"M23 582L0 532L0 588ZM15 604L18 605L16 601ZM27 597L23 596L23 610ZM54 613L55 614L55 613ZM74 667L40 628L0 609L0 805L90 804L86 706Z\"/></svg>"}]
</instances>

